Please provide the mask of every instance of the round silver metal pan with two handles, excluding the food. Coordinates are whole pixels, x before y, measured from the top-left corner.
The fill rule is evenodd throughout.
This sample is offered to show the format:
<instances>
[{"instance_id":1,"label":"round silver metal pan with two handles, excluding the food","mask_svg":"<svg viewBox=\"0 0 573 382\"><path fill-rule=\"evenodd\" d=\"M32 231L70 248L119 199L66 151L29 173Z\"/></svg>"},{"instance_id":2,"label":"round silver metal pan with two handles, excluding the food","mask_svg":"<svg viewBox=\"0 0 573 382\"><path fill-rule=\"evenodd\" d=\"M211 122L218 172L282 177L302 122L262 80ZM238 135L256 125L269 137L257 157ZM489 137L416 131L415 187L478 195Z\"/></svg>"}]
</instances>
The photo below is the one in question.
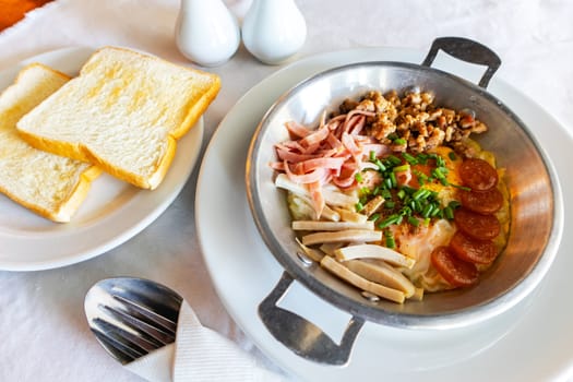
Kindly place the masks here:
<instances>
[{"instance_id":1,"label":"round silver metal pan with two handles, excluding the food","mask_svg":"<svg viewBox=\"0 0 573 382\"><path fill-rule=\"evenodd\" d=\"M431 68L439 50L486 65L478 85ZM274 290L261 302L259 315L280 343L307 359L330 363L348 362L354 342L365 321L404 329L446 330L482 322L523 300L542 279L559 247L563 215L561 189L542 147L529 129L501 100L486 91L501 61L489 48L463 38L433 41L421 64L361 62L335 68L299 83L284 94L259 124L247 160L247 193L250 207L266 246L285 272ZM396 305L366 299L360 290L332 276L297 253L285 194L274 184L268 163L273 145L287 139L284 122L308 126L344 98L366 89L432 91L438 105L471 109L490 130L478 141L492 151L501 167L511 198L511 230L504 252L471 288L427 294L423 301ZM308 289L351 315L341 343L321 329L277 306L296 279Z\"/></svg>"}]
</instances>

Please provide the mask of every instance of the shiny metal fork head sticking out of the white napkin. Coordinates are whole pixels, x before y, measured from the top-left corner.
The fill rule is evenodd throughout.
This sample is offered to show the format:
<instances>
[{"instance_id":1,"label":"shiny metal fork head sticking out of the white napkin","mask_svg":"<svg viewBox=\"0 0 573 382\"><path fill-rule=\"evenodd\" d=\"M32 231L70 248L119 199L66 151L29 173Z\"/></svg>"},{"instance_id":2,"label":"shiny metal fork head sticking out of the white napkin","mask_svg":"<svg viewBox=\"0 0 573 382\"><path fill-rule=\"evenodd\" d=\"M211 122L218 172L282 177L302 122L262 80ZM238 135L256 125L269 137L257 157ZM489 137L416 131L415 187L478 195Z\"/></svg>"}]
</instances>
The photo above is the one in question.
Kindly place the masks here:
<instances>
[{"instance_id":1,"label":"shiny metal fork head sticking out of the white napkin","mask_svg":"<svg viewBox=\"0 0 573 382\"><path fill-rule=\"evenodd\" d=\"M126 365L175 342L182 300L157 283L118 277L96 283L84 309L97 341Z\"/></svg>"}]
</instances>

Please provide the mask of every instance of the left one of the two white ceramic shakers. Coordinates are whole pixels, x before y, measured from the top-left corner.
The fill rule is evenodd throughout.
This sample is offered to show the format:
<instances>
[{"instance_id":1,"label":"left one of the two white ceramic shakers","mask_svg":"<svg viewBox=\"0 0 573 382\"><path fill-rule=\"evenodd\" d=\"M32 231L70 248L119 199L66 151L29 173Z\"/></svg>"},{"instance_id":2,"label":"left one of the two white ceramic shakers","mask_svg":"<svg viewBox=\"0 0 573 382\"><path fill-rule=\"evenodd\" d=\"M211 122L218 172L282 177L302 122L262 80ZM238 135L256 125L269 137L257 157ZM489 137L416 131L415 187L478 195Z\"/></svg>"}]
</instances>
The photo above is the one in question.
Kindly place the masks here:
<instances>
[{"instance_id":1,"label":"left one of the two white ceramic shakers","mask_svg":"<svg viewBox=\"0 0 573 382\"><path fill-rule=\"evenodd\" d=\"M222 0L181 0L175 39L181 53L203 67L216 67L240 44L237 20Z\"/></svg>"}]
</instances>

